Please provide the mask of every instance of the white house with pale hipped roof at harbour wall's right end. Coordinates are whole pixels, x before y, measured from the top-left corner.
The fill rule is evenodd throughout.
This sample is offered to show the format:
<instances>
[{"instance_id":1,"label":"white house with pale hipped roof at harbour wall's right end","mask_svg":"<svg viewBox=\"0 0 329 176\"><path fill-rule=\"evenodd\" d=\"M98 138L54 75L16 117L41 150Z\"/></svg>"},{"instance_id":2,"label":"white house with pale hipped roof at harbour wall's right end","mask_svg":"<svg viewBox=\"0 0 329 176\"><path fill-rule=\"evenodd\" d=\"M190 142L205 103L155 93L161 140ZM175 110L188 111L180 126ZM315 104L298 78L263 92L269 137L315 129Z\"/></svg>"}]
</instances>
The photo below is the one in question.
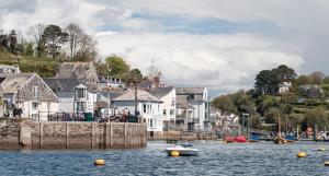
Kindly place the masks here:
<instances>
[{"instance_id":1,"label":"white house with pale hipped roof at harbour wall's right end","mask_svg":"<svg viewBox=\"0 0 329 176\"><path fill-rule=\"evenodd\" d=\"M125 109L131 114L135 112L135 91L127 90L123 95L113 98L114 107L120 112ZM150 93L138 90L137 91L137 112L147 124L147 131L150 137L161 134L163 129L163 117L161 109L161 99L151 95Z\"/></svg>"}]
</instances>

